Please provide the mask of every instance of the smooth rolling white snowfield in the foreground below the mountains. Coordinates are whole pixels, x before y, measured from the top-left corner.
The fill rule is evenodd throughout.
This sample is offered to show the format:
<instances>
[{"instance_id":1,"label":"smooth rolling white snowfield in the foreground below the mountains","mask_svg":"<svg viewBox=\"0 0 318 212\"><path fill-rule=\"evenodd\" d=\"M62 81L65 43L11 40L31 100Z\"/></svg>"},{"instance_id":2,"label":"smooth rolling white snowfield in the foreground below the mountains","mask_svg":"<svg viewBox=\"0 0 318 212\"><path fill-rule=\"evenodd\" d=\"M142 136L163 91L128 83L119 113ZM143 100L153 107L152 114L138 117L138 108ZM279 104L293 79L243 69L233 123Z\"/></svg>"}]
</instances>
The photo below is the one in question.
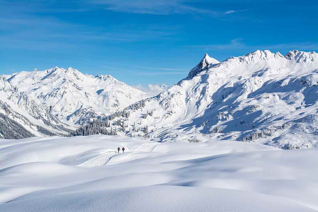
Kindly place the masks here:
<instances>
[{"instance_id":1,"label":"smooth rolling white snowfield in the foreground below the mountains","mask_svg":"<svg viewBox=\"0 0 318 212\"><path fill-rule=\"evenodd\" d=\"M317 154L230 140L0 139L0 211L317 211Z\"/></svg>"}]
</instances>

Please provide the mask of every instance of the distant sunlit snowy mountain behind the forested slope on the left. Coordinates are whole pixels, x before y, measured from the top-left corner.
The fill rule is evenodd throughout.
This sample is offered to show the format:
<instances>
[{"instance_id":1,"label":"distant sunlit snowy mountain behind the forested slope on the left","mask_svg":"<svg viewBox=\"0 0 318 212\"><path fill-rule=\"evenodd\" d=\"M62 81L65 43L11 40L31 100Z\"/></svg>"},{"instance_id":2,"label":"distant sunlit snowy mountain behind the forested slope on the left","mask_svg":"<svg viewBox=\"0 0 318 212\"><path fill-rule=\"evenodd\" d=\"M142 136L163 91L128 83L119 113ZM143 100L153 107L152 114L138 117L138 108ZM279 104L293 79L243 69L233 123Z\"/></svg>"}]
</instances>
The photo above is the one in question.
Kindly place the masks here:
<instances>
[{"instance_id":1,"label":"distant sunlit snowy mountain behind the forested slope on the left","mask_svg":"<svg viewBox=\"0 0 318 212\"><path fill-rule=\"evenodd\" d=\"M146 98L146 93L110 75L94 77L71 67L19 72L8 81L69 124L89 122Z\"/></svg>"}]
</instances>

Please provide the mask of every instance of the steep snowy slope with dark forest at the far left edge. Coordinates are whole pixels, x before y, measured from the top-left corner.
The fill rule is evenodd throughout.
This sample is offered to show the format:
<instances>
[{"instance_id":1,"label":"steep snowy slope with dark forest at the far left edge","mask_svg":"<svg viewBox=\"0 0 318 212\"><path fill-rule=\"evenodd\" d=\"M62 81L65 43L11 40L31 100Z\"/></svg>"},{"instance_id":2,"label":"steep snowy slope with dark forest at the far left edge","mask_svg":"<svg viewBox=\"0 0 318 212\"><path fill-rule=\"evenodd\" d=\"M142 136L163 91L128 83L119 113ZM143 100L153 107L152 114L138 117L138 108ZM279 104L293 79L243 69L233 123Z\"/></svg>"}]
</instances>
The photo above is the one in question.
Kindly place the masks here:
<instances>
[{"instance_id":1,"label":"steep snowy slope with dark forest at the far left edge","mask_svg":"<svg viewBox=\"0 0 318 212\"><path fill-rule=\"evenodd\" d=\"M0 78L0 138L66 135L73 127L54 117L25 92Z\"/></svg>"}]
</instances>

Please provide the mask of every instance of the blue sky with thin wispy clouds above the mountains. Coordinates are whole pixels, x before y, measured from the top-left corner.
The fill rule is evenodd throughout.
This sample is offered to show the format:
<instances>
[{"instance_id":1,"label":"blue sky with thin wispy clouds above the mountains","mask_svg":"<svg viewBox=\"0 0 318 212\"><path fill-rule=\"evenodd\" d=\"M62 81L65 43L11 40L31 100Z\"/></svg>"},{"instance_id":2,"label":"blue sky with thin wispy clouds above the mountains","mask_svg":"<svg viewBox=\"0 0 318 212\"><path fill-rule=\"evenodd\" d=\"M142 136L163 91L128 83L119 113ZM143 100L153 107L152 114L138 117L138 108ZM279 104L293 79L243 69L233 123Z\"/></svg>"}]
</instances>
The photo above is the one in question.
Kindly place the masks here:
<instances>
[{"instance_id":1,"label":"blue sky with thin wispy clouds above the mountains","mask_svg":"<svg viewBox=\"0 0 318 212\"><path fill-rule=\"evenodd\" d=\"M73 67L172 85L208 53L318 50L318 1L0 0L0 74Z\"/></svg>"}]
</instances>

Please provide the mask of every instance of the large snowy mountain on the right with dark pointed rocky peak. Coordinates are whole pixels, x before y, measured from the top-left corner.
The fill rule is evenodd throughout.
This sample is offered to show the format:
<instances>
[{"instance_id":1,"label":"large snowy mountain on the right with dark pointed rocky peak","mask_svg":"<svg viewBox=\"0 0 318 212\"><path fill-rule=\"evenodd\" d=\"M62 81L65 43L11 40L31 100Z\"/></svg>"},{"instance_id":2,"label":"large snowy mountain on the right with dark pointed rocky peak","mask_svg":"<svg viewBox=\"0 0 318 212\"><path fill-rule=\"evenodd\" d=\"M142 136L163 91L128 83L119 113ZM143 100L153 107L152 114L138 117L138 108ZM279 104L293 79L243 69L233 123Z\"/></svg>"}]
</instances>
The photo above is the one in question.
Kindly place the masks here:
<instances>
[{"instance_id":1,"label":"large snowy mountain on the right with dark pointed rocky peak","mask_svg":"<svg viewBox=\"0 0 318 212\"><path fill-rule=\"evenodd\" d=\"M316 52L283 56L257 50L222 62L205 54L188 77L148 98L144 107L127 108L128 118L112 117L111 127L160 141L213 138L317 147L317 85Z\"/></svg>"}]
</instances>

